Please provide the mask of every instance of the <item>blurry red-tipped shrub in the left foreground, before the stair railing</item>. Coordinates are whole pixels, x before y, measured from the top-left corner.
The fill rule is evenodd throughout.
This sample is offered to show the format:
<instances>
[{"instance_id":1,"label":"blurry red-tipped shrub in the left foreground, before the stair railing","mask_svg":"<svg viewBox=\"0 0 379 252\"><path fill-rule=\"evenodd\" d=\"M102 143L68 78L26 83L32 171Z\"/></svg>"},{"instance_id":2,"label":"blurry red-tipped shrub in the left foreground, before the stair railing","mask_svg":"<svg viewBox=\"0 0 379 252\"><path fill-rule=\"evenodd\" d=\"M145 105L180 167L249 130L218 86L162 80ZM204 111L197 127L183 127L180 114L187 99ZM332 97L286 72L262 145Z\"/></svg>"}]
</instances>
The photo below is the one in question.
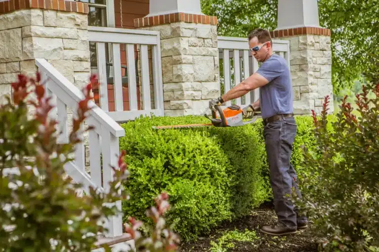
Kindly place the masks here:
<instances>
[{"instance_id":1,"label":"blurry red-tipped shrub in the left foreground, before the stair railing","mask_svg":"<svg viewBox=\"0 0 379 252\"><path fill-rule=\"evenodd\" d=\"M76 196L81 185L65 176L64 165L71 161L75 145L80 143L80 126L87 118L91 91L97 87L96 76L91 76L83 89L68 143L57 143L57 121L48 116L54 108L46 95L40 74L36 78L19 75L12 84L12 99L0 106L0 248L2 251L91 251L96 248L97 234L104 218L117 214L112 203L127 198L123 187L128 178L123 152L110 191L90 188L88 195ZM34 95L35 98L31 98ZM29 106L34 107L34 114ZM88 127L86 130L91 130ZM121 191L121 195L119 194ZM157 198L151 216L156 222L152 237L136 239L137 250L148 247L151 252L173 251L178 238L165 228L163 215L169 207L167 194ZM133 220L133 219L131 219ZM126 232L137 232L136 223ZM160 236L160 234L163 236ZM143 244L143 245L141 245Z\"/></svg>"}]
</instances>

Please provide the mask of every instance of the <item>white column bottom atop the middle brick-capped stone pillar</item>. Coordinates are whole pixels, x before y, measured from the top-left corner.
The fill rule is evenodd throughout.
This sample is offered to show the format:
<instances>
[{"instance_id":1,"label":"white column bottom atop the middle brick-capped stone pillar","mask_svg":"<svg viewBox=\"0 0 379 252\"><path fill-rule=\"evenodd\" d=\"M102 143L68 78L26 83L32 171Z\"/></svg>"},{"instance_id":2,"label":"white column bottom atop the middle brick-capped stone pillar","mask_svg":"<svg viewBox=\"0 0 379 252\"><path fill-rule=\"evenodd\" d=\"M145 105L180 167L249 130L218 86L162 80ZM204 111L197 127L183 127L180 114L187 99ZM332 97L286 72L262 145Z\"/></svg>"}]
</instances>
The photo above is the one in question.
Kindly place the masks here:
<instances>
[{"instance_id":1,"label":"white column bottom atop the middle brick-capped stone pillar","mask_svg":"<svg viewBox=\"0 0 379 252\"><path fill-rule=\"evenodd\" d=\"M200 0L150 0L147 17L178 12L202 15Z\"/></svg>"}]
</instances>

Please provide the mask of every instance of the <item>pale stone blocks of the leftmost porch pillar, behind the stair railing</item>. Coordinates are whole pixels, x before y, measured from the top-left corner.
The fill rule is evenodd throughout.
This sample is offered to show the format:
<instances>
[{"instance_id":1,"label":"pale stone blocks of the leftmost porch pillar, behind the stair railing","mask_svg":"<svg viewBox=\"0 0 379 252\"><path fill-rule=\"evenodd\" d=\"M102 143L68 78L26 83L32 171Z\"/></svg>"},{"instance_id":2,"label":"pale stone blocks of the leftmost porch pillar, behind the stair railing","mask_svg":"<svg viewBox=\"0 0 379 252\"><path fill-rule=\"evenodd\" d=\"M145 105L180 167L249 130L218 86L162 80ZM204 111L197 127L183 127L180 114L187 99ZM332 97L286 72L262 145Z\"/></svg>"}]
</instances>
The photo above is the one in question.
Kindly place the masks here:
<instances>
[{"instance_id":1,"label":"pale stone blocks of the leftmost porch pillar, behind the stair railing","mask_svg":"<svg viewBox=\"0 0 379 252\"><path fill-rule=\"evenodd\" d=\"M78 4L69 2L66 5L72 6L74 3ZM3 95L11 95L11 83L17 81L18 74L35 76L35 59L38 58L47 60L79 89L88 83L90 52L87 14L84 8L81 13L72 12L71 8L67 10L36 8L0 14L0 102L5 102ZM68 125L71 128L70 109ZM88 134L84 141L88 166Z\"/></svg>"}]
</instances>

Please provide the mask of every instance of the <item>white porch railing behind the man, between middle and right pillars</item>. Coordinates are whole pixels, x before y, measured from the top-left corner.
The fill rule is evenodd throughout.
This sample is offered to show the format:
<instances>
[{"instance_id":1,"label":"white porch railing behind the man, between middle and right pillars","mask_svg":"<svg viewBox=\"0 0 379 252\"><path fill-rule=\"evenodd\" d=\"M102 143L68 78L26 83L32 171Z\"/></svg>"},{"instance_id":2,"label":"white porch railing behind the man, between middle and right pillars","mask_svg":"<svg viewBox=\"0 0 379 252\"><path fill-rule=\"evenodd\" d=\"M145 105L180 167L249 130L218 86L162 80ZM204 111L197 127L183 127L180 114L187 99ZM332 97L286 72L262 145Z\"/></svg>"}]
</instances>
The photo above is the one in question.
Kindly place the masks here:
<instances>
[{"instance_id":1,"label":"white porch railing behind the man, between middle and right pillars","mask_svg":"<svg viewBox=\"0 0 379 252\"><path fill-rule=\"evenodd\" d=\"M274 53L285 58L290 65L290 44L285 40L273 40L272 49ZM240 37L218 37L219 59L222 59L220 67L221 90L225 94L248 76L258 70L258 62L249 51L247 38ZM228 59L227 61L225 59ZM250 104L259 98L259 89L249 92L243 97L235 99L235 104ZM231 101L226 103L227 106Z\"/></svg>"}]
</instances>

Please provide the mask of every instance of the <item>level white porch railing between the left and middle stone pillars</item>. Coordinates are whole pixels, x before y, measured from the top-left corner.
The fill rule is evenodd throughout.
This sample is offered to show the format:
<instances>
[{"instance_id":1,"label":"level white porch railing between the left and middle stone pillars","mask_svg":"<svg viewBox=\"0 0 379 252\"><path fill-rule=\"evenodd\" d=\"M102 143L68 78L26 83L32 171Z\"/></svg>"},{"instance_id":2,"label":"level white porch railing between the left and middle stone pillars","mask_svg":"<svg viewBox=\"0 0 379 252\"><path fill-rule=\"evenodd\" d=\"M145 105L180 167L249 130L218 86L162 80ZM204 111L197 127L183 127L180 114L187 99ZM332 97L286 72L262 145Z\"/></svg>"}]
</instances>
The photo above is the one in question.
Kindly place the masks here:
<instances>
[{"instance_id":1,"label":"level white porch railing between the left and middle stone pillars","mask_svg":"<svg viewBox=\"0 0 379 252\"><path fill-rule=\"evenodd\" d=\"M134 120L141 115L151 114L157 116L164 115L163 107L163 84L162 84L162 66L160 55L160 33L154 31L139 31L129 29L117 29L108 27L89 27L89 41L96 42L97 54L97 72L100 81L100 108L106 111L116 122L126 122ZM106 47L106 43L108 46ZM126 69L127 77L122 76L120 46L125 44L126 47ZM138 46L139 56L135 56L135 45ZM152 49L151 62L149 59L148 46ZM107 54L106 51L109 51ZM110 59L107 63L107 57ZM137 74L136 71L136 58L140 59L141 71ZM152 63L152 73L150 72L149 63ZM113 73L107 71L107 66L112 65ZM151 80L152 74L153 81L153 105L151 97ZM111 89L111 96L114 94L114 111L109 109L108 101L108 79L110 75L114 75L113 91ZM141 79L137 83L137 77ZM126 80L125 80L126 79ZM126 83L125 83L126 82ZM127 84L127 88L124 87ZM137 94L137 87L141 84L143 109L139 109L139 95ZM127 97L123 97L123 91L128 89ZM107 92L104 92L107 91ZM141 90L139 90L141 92ZM138 92L138 93L140 93ZM111 97L110 96L110 97ZM129 102L129 108L124 107L124 103Z\"/></svg>"}]
</instances>

